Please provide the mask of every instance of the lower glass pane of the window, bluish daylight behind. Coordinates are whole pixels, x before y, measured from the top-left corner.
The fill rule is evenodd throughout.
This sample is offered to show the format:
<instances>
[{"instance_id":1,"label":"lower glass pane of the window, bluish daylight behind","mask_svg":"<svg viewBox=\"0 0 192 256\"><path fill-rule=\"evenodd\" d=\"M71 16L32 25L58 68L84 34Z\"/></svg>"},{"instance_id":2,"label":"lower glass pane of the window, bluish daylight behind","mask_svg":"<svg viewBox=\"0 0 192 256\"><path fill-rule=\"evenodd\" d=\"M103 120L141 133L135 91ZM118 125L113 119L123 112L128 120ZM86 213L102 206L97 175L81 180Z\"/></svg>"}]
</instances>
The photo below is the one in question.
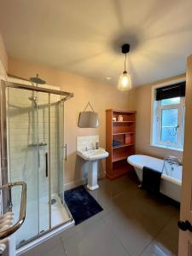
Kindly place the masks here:
<instances>
[{"instance_id":1,"label":"lower glass pane of the window, bluish daylight behind","mask_svg":"<svg viewBox=\"0 0 192 256\"><path fill-rule=\"evenodd\" d=\"M161 141L177 143L178 109L163 109L161 111Z\"/></svg>"}]
</instances>

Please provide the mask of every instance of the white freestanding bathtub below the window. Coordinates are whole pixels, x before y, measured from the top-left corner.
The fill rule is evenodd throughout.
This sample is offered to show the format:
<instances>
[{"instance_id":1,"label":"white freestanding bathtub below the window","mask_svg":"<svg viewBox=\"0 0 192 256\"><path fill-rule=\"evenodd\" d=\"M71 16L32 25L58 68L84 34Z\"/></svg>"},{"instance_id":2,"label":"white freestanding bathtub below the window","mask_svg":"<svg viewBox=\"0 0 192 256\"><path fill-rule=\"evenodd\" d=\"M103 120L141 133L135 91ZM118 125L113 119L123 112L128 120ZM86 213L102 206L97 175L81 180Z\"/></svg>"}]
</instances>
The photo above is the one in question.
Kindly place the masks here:
<instances>
[{"instance_id":1,"label":"white freestanding bathtub below the window","mask_svg":"<svg viewBox=\"0 0 192 256\"><path fill-rule=\"evenodd\" d=\"M143 166L148 166L154 170L162 172L164 163L163 160L143 154L133 154L127 158L127 161L134 167L140 182L143 180ZM160 193L180 202L181 186L182 166L174 165L172 171L169 170L169 172L166 172L164 168L160 181Z\"/></svg>"}]
</instances>

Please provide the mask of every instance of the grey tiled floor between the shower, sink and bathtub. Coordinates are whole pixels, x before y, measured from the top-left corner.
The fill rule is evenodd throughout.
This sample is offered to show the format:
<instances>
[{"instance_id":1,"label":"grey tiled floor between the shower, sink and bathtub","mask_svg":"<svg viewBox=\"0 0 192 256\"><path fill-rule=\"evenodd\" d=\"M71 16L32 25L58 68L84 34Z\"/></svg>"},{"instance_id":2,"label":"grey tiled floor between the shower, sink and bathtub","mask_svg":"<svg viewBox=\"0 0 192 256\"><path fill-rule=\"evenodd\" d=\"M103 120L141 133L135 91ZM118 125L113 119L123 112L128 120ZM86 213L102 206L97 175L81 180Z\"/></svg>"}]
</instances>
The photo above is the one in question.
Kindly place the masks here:
<instances>
[{"instance_id":1,"label":"grey tiled floor between the shower, sink and bathtub","mask_svg":"<svg viewBox=\"0 0 192 256\"><path fill-rule=\"evenodd\" d=\"M22 256L177 255L179 210L130 177L102 179L90 192L103 211Z\"/></svg>"}]
</instances>

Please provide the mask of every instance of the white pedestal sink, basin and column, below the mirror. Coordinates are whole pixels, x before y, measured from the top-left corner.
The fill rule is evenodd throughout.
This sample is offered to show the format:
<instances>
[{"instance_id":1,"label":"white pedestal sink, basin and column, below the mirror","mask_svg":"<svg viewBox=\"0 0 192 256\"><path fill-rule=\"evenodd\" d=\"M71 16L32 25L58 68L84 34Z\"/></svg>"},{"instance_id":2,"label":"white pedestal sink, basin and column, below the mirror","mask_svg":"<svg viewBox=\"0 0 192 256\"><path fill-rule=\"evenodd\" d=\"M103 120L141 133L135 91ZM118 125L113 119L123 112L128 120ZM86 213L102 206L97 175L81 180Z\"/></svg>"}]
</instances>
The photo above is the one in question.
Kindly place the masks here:
<instances>
[{"instance_id":1,"label":"white pedestal sink, basin and column, below the mirror","mask_svg":"<svg viewBox=\"0 0 192 256\"><path fill-rule=\"evenodd\" d=\"M108 157L108 152L103 148L90 150L77 150L77 154L86 161L89 161L87 189L99 188L97 183L98 160Z\"/></svg>"}]
</instances>

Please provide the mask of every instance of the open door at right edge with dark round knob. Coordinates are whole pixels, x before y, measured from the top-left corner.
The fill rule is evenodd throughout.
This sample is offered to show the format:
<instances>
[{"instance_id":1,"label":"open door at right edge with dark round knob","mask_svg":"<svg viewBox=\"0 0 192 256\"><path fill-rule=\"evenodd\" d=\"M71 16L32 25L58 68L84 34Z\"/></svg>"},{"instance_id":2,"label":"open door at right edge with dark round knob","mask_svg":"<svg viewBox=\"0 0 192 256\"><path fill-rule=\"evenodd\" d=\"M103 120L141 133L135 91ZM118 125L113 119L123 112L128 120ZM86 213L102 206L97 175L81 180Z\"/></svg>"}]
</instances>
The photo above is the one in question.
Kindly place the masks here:
<instances>
[{"instance_id":1,"label":"open door at right edge with dark round knob","mask_svg":"<svg viewBox=\"0 0 192 256\"><path fill-rule=\"evenodd\" d=\"M192 227L190 226L190 224L192 224L192 55L188 57L186 79L183 191L180 214L181 229L179 230L179 256L192 255Z\"/></svg>"}]
</instances>

